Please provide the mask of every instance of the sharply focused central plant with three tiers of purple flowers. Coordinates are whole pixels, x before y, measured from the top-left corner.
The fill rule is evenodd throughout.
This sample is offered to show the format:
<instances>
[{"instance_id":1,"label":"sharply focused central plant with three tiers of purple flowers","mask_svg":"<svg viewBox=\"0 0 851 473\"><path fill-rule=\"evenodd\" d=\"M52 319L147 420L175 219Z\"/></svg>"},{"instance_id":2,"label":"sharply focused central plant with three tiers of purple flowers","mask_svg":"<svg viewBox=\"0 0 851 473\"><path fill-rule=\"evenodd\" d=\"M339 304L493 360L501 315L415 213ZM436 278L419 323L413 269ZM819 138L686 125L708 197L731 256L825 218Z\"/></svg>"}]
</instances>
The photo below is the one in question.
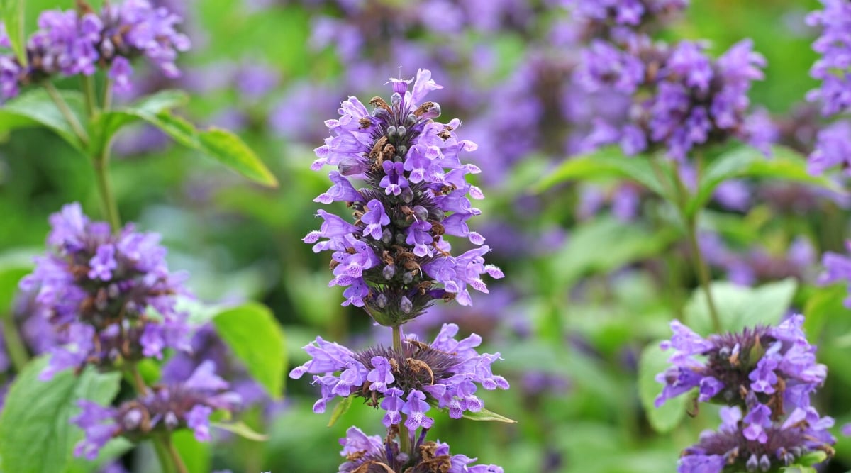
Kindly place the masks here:
<instances>
[{"instance_id":1,"label":"sharply focused central plant with three tiers of purple flowers","mask_svg":"<svg viewBox=\"0 0 851 473\"><path fill-rule=\"evenodd\" d=\"M348 461L340 471L501 471L493 465L468 467L473 460L449 455L448 445L425 442L434 425L427 415L432 407L446 408L451 418L460 419L483 410L476 396L479 385L487 390L509 385L491 371L499 354L475 350L482 341L476 334L455 339L458 327L452 324L444 325L431 344L402 334L403 323L438 300L471 305L468 285L488 292L483 274L503 276L496 266L485 265L489 248L467 226L480 214L467 196L481 199L483 194L466 181L466 174L479 169L462 164L460 152L477 146L458 139L459 120L434 121L440 105L424 99L441 86L430 71L417 71L408 90L411 82L391 79L390 102L375 97L369 101L371 112L351 97L342 103L340 118L325 123L332 135L317 148L312 168L328 164L337 169L328 174L334 185L315 201L346 202L354 221L319 210L320 230L304 238L314 243L315 252L334 252L330 285L346 288L343 305L363 307L375 322L391 327L393 345L355 351L317 337L315 345L305 347L311 360L290 377L314 374L322 390L316 413L324 412L335 396L360 396L384 411L386 439L350 429L341 441ZM357 189L350 179L365 187ZM481 246L454 256L444 235Z\"/></svg>"}]
</instances>

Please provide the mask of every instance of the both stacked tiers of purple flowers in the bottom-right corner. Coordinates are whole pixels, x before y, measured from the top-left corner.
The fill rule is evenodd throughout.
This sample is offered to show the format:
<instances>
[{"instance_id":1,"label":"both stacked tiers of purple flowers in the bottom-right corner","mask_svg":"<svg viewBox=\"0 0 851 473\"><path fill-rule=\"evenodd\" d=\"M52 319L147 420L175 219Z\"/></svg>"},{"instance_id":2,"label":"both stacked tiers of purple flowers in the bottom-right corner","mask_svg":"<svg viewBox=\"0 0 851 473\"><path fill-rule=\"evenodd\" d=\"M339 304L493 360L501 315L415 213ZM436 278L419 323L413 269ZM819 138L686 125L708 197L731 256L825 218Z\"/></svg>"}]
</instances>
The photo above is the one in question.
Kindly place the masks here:
<instances>
[{"instance_id":1,"label":"both stacked tiers of purple flowers in the bottom-right corner","mask_svg":"<svg viewBox=\"0 0 851 473\"><path fill-rule=\"evenodd\" d=\"M815 347L802 332L803 316L777 327L745 328L740 333L700 337L678 321L662 344L673 349L673 363L657 381L665 385L656 406L698 388L698 401L731 406L722 411L717 433L701 436L686 449L680 473L768 471L788 465L804 453L830 452L834 439L825 429L833 419L820 418L810 395L825 382L827 368L816 362ZM784 418L785 413L789 413ZM744 417L743 417L744 415Z\"/></svg>"}]
</instances>

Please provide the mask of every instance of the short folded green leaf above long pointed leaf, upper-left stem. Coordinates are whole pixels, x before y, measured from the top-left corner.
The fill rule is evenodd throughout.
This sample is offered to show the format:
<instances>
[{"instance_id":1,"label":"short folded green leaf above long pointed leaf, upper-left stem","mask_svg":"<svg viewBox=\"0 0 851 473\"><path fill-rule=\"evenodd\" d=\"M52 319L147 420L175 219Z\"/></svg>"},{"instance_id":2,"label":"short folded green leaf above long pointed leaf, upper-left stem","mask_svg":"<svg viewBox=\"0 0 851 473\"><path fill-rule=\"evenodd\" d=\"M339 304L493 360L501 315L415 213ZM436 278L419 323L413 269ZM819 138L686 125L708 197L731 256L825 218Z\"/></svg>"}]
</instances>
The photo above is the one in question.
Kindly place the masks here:
<instances>
[{"instance_id":1,"label":"short folded green leaf above long pointed leaf, upper-left stem","mask_svg":"<svg viewBox=\"0 0 851 473\"><path fill-rule=\"evenodd\" d=\"M93 145L94 154L100 154L109 145L113 137L121 128L130 123L138 123L143 116L156 117L157 113L174 110L186 105L189 95L182 90L163 90L156 94L148 95L133 105L117 108L101 114L95 123L98 141ZM150 120L147 120L150 121Z\"/></svg>"}]
</instances>

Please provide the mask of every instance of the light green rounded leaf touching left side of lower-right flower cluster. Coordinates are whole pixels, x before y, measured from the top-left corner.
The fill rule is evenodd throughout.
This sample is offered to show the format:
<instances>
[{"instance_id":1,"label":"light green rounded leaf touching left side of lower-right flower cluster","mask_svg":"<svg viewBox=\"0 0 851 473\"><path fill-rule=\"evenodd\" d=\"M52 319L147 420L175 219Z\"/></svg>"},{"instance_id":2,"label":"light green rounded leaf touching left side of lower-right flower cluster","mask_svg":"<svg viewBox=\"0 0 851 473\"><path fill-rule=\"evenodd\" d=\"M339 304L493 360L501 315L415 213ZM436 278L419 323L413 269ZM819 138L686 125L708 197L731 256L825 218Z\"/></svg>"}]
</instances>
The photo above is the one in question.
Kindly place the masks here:
<instances>
[{"instance_id":1,"label":"light green rounded leaf touching left side of lower-right flower cluster","mask_svg":"<svg viewBox=\"0 0 851 473\"><path fill-rule=\"evenodd\" d=\"M650 426L657 432L665 433L674 430L683 421L688 396L677 396L668 399L659 408L655 407L656 396L659 396L663 387L656 381L656 375L663 373L671 364L668 362L671 354L662 351L660 342L656 340L647 345L638 359L638 396Z\"/></svg>"}]
</instances>

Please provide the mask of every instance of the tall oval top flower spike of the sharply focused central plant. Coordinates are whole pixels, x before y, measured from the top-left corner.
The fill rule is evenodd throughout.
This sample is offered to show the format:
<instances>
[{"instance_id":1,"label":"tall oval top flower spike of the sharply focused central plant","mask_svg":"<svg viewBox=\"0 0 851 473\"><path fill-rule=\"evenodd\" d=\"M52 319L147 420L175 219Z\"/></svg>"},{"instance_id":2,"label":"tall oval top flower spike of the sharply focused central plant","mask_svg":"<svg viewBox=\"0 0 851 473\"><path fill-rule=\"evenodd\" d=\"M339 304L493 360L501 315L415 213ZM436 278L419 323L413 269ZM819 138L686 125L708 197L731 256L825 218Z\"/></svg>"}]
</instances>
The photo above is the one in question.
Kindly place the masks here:
<instances>
[{"instance_id":1,"label":"tall oval top flower spike of the sharply focused central plant","mask_svg":"<svg viewBox=\"0 0 851 473\"><path fill-rule=\"evenodd\" d=\"M340 118L326 121L332 136L316 149L312 168L329 164L337 170L329 174L334 185L314 200L346 202L356 220L352 224L319 210L323 225L304 238L316 243L315 252L334 252L330 285L346 288L343 305L364 307L386 326L413 319L437 299L470 305L468 284L486 293L481 275L503 276L496 266L484 264L488 246L450 254L443 235L484 242L466 223L481 213L467 196L484 196L465 176L480 170L461 164L459 157L460 151L477 146L458 139L459 120L434 122L440 105L423 100L441 86L430 71L417 72L413 90L408 90L410 82L391 79L391 103L375 97L369 102L371 113L350 97L340 107ZM367 187L357 190L350 178Z\"/></svg>"}]
</instances>

